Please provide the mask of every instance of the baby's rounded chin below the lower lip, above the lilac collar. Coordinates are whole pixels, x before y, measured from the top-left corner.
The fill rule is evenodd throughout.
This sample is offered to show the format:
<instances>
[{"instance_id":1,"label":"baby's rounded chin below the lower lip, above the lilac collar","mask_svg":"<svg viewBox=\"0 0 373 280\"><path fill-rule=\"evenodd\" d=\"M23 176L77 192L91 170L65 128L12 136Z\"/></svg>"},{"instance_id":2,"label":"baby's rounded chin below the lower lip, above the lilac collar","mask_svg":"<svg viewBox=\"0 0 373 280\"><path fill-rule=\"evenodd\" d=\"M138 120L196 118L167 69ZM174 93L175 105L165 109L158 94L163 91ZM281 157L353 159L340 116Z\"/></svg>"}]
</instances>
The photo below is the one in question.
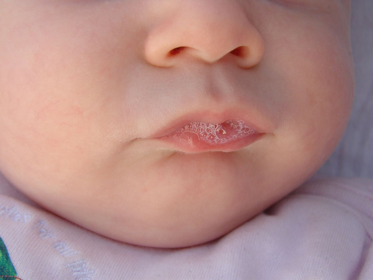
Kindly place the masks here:
<instances>
[{"instance_id":1,"label":"baby's rounded chin below the lower lip, above the lilac collar","mask_svg":"<svg viewBox=\"0 0 373 280\"><path fill-rule=\"evenodd\" d=\"M225 160L218 160L219 157ZM275 187L266 190L256 180L250 180L255 177L245 165L237 166L234 160L238 159L227 153L175 155L164 165L157 164L138 174L131 190L122 186L116 188L116 195L110 200L101 194L93 202L85 201L94 218L79 211L61 212L61 215L98 234L133 245L156 248L201 245L244 224L287 192L275 190L281 184L271 184ZM182 161L185 172L181 172L178 161ZM196 170L203 167L208 168L198 174ZM98 211L97 205L106 207Z\"/></svg>"}]
</instances>

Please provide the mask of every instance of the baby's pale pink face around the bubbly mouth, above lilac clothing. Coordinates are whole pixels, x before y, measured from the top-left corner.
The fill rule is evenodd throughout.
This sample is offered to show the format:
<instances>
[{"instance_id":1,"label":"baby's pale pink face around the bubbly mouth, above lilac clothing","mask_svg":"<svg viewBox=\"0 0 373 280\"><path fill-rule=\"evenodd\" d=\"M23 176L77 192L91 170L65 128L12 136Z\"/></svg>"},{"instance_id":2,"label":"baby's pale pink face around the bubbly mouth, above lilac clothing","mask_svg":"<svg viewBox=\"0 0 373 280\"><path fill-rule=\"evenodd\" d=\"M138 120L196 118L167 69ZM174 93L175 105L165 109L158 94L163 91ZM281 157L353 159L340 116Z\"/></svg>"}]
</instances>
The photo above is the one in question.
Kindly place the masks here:
<instances>
[{"instance_id":1,"label":"baby's pale pink face around the bubbly mouth, above lilac clothing","mask_svg":"<svg viewBox=\"0 0 373 280\"><path fill-rule=\"evenodd\" d=\"M332 153L354 91L349 17L349 0L1 1L0 170L116 240L214 240ZM199 153L152 139L224 118L261 137Z\"/></svg>"}]
</instances>

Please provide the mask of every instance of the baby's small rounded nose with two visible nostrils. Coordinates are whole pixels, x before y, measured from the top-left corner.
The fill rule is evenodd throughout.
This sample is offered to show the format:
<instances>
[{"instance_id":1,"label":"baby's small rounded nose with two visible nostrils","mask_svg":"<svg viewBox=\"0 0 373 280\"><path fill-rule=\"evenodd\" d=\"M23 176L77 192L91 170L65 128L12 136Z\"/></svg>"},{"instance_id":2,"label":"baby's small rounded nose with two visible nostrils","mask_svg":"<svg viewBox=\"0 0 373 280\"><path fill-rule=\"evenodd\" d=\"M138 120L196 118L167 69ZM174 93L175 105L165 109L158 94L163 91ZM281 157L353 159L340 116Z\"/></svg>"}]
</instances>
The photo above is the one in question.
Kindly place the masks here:
<instances>
[{"instance_id":1,"label":"baby's small rounded nose with two visible nostrils","mask_svg":"<svg viewBox=\"0 0 373 280\"><path fill-rule=\"evenodd\" d=\"M145 41L145 59L172 67L181 58L214 63L229 56L242 68L263 56L263 40L236 0L159 0L158 22ZM172 4L170 4L172 2ZM164 9L162 9L164 5Z\"/></svg>"}]
</instances>

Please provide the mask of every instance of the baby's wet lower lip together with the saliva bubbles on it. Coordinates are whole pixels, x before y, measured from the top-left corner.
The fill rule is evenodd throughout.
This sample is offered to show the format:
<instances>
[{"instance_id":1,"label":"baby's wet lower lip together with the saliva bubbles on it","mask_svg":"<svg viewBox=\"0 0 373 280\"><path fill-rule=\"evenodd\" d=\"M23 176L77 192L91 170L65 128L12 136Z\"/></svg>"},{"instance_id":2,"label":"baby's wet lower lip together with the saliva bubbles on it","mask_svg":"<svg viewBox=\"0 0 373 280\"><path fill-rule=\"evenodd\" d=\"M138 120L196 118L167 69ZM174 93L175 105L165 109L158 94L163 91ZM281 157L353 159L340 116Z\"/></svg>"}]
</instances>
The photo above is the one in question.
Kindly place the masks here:
<instances>
[{"instance_id":1,"label":"baby's wet lower lip together with the saliva bubbles on it","mask_svg":"<svg viewBox=\"0 0 373 280\"><path fill-rule=\"evenodd\" d=\"M160 146L184 153L233 152L254 143L260 133L242 119L231 118L222 123L189 122L160 137Z\"/></svg>"}]
</instances>

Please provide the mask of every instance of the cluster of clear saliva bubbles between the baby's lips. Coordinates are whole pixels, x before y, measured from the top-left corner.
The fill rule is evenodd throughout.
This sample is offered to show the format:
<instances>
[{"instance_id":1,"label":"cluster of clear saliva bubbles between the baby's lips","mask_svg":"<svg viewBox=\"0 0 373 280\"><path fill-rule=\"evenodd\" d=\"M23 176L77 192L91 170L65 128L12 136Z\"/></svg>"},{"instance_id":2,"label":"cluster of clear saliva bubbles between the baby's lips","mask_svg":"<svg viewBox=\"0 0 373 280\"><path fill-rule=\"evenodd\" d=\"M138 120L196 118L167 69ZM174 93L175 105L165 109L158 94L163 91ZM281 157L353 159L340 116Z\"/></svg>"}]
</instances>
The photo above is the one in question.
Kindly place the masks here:
<instances>
[{"instance_id":1,"label":"cluster of clear saliva bubbles between the baby's lips","mask_svg":"<svg viewBox=\"0 0 373 280\"><path fill-rule=\"evenodd\" d=\"M191 122L178 131L176 135L181 135L184 132L192 132L198 135L200 140L209 144L224 144L228 141L245 137L255 133L253 128L245 125L244 121L229 120L222 124L206 124L205 122ZM174 134L174 135L175 135Z\"/></svg>"}]
</instances>

